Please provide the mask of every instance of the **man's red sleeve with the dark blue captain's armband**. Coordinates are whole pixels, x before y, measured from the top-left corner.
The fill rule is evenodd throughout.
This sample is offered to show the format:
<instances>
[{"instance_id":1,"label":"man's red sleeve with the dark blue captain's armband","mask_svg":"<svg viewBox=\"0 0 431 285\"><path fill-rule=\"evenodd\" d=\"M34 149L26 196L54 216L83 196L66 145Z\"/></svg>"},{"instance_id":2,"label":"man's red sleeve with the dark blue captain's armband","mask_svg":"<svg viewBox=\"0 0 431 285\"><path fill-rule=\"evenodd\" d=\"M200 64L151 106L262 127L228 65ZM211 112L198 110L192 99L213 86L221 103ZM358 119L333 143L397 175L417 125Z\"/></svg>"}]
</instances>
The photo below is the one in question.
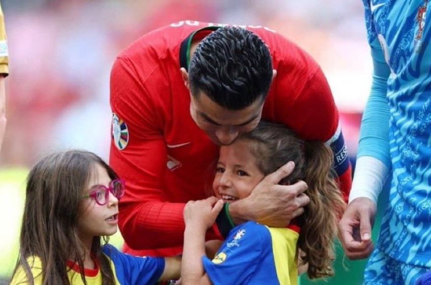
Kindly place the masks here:
<instances>
[{"instance_id":1,"label":"man's red sleeve with the dark blue captain's armband","mask_svg":"<svg viewBox=\"0 0 431 285\"><path fill-rule=\"evenodd\" d=\"M339 186L347 201L351 166L339 128L337 106L320 67L308 55L299 54L297 58L301 61L300 67L278 63L264 109L270 119L288 126L301 137L331 145Z\"/></svg>"}]
</instances>

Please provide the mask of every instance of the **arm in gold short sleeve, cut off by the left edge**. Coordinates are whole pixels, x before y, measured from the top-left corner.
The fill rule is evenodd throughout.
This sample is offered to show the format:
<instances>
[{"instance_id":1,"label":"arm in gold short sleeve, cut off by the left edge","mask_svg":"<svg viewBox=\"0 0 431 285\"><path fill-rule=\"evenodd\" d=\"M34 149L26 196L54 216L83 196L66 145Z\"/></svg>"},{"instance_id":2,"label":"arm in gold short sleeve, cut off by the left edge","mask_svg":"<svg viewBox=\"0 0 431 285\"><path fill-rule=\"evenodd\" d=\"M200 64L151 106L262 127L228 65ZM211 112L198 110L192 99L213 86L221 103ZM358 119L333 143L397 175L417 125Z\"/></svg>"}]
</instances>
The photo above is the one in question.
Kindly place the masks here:
<instances>
[{"instance_id":1,"label":"arm in gold short sleeve, cut off by the left edge","mask_svg":"<svg viewBox=\"0 0 431 285\"><path fill-rule=\"evenodd\" d=\"M7 64L6 30L4 28L3 11L0 6L0 151L6 130L6 89L4 78L9 74Z\"/></svg>"}]
</instances>

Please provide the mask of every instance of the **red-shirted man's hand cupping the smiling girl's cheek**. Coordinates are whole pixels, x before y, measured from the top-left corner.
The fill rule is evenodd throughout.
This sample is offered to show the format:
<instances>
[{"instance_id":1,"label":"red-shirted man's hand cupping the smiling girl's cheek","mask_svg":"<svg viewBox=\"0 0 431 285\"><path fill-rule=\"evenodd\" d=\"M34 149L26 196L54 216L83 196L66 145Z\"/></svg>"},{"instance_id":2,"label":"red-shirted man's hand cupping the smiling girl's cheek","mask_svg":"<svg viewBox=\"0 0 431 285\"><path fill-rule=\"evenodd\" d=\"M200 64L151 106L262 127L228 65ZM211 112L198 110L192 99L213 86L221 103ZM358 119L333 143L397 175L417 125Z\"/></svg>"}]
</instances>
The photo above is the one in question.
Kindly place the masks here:
<instances>
[{"instance_id":1,"label":"red-shirted man's hand cupping the smiling girl's cheek","mask_svg":"<svg viewBox=\"0 0 431 285\"><path fill-rule=\"evenodd\" d=\"M307 184L299 181L293 185L278 185L294 167L292 161L283 165L260 181L250 196L229 204L229 214L234 223L254 220L270 227L284 227L301 215L303 207L310 201L304 194Z\"/></svg>"}]
</instances>

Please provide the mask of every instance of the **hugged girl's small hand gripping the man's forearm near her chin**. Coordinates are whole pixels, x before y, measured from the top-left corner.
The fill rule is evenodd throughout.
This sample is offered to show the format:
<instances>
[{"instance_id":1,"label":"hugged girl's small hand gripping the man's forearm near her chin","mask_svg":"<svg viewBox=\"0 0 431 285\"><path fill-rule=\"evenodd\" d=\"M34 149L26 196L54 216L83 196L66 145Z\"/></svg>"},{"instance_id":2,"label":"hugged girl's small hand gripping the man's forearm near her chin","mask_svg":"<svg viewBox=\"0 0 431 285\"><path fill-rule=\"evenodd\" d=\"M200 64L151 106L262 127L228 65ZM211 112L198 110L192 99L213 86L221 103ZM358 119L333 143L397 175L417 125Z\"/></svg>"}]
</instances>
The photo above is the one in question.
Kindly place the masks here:
<instances>
[{"instance_id":1,"label":"hugged girl's small hand gripping the man's forearm near her chin","mask_svg":"<svg viewBox=\"0 0 431 285\"><path fill-rule=\"evenodd\" d=\"M218 200L214 196L205 200L189 201L184 207L185 225L206 231L216 222L222 208L223 200Z\"/></svg>"}]
</instances>

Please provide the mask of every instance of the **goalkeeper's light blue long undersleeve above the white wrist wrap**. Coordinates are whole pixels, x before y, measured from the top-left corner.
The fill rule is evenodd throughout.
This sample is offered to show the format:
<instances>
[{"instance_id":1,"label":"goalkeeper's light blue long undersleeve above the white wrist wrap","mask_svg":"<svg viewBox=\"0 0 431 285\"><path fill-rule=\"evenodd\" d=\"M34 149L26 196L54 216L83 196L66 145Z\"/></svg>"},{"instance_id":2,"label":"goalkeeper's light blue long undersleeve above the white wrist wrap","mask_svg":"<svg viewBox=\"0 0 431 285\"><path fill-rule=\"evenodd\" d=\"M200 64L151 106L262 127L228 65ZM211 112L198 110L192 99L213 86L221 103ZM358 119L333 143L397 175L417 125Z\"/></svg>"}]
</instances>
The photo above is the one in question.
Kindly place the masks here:
<instances>
[{"instance_id":1,"label":"goalkeeper's light blue long undersleeve above the white wrist wrap","mask_svg":"<svg viewBox=\"0 0 431 285\"><path fill-rule=\"evenodd\" d=\"M373 60L373 76L369 99L364 110L359 135L357 157L372 156L391 167L389 152L389 104L386 97L390 69L385 61L377 32L366 7L366 23Z\"/></svg>"}]
</instances>

